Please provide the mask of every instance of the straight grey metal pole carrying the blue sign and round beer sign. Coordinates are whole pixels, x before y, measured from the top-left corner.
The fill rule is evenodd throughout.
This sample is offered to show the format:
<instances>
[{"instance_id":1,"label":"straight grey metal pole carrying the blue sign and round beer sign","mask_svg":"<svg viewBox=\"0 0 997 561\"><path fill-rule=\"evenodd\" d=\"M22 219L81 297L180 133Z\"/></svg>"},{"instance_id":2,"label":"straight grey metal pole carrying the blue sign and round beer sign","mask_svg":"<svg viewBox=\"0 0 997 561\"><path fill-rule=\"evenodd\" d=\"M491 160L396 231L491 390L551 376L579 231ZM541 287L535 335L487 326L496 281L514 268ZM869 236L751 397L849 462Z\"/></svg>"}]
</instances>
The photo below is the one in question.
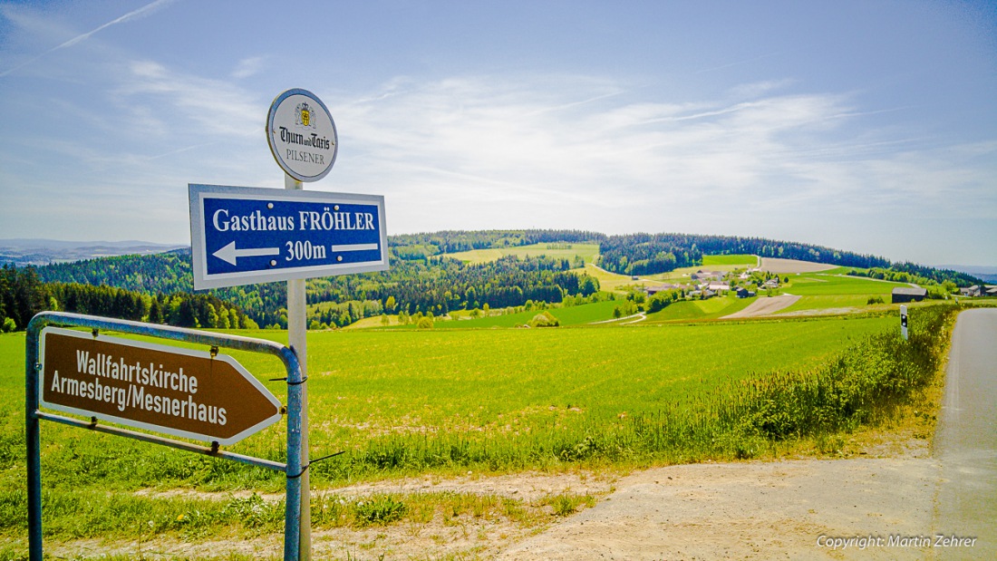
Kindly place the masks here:
<instances>
[{"instance_id":1,"label":"straight grey metal pole carrying the blue sign and round beer sign","mask_svg":"<svg viewBox=\"0 0 997 561\"><path fill-rule=\"evenodd\" d=\"M284 174L284 188L302 190L304 184ZM308 380L308 318L305 279L287 281L287 346L294 350L301 368L301 380ZM311 490L308 484L308 384L301 386L301 533L298 559L311 559Z\"/></svg>"}]
</instances>

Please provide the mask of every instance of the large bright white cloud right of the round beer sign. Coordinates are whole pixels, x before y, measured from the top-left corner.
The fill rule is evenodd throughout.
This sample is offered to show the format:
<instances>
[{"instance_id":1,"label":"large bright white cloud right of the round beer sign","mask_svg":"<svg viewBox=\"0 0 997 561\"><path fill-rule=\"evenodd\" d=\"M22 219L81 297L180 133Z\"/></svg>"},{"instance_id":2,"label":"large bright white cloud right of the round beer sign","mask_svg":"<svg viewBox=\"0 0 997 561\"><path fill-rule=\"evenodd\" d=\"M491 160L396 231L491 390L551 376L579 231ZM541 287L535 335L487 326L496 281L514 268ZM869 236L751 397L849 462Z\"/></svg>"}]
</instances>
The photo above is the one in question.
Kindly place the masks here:
<instances>
[{"instance_id":1,"label":"large bright white cloud right of the round beer sign","mask_svg":"<svg viewBox=\"0 0 997 561\"><path fill-rule=\"evenodd\" d=\"M924 151L868 125L847 96L785 85L735 88L754 96L743 101L648 101L583 77L400 79L331 108L330 177L401 201L395 231L831 231L884 205L960 214L960 197L997 190L993 165L969 162L992 143Z\"/></svg>"}]
</instances>

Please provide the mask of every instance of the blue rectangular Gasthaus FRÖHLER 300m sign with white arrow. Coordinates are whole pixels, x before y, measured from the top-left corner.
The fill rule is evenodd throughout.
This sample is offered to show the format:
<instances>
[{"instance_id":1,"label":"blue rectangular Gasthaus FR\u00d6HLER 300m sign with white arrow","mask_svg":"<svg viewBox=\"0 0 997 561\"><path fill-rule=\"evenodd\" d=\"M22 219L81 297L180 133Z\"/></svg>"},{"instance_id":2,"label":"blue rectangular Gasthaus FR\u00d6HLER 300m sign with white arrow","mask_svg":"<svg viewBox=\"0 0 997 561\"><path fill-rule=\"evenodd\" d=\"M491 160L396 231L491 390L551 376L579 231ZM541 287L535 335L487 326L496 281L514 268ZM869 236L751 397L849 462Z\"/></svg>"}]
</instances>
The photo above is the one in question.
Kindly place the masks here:
<instances>
[{"instance_id":1,"label":"blue rectangular Gasthaus FR\u00d6HLER 300m sign with white arrow","mask_svg":"<svg viewBox=\"0 0 997 561\"><path fill-rule=\"evenodd\" d=\"M188 185L195 289L388 269L384 197Z\"/></svg>"}]
</instances>

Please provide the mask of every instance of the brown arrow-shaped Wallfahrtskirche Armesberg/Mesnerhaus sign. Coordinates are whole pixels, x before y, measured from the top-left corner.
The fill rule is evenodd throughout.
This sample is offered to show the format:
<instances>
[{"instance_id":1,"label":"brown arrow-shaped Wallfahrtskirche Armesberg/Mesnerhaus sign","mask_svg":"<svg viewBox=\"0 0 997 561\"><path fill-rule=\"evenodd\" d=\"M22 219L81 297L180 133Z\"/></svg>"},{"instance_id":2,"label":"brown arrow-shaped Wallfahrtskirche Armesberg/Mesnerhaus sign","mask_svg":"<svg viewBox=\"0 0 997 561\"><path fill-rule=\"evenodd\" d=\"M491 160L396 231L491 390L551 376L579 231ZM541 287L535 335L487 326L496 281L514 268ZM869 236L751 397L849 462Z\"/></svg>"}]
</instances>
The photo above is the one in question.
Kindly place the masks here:
<instances>
[{"instance_id":1,"label":"brown arrow-shaped Wallfahrtskirche Armesberg/Mesnerhaus sign","mask_svg":"<svg viewBox=\"0 0 997 561\"><path fill-rule=\"evenodd\" d=\"M39 401L56 411L231 444L280 420L280 403L225 355L47 327Z\"/></svg>"}]
</instances>

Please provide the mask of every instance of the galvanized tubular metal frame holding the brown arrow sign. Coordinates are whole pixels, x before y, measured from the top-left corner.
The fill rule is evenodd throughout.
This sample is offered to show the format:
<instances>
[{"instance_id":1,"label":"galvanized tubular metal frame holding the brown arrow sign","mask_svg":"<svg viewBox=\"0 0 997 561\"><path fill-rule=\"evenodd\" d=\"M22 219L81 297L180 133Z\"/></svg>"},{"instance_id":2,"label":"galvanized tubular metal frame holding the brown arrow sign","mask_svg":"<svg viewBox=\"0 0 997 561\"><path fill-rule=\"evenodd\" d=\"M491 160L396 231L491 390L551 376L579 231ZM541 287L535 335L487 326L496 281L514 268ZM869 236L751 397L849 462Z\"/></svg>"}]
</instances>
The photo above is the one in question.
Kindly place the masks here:
<instances>
[{"instance_id":1,"label":"galvanized tubular metal frame holding the brown arrow sign","mask_svg":"<svg viewBox=\"0 0 997 561\"><path fill-rule=\"evenodd\" d=\"M144 335L197 343L211 347L249 351L269 354L277 357L287 371L287 463L278 463L257 457L237 454L218 449L217 446L205 447L179 440L172 440L154 434L146 434L117 426L98 424L96 419L90 422L80 421L39 411L38 369L39 335L47 325L65 325L83 327L94 330L115 331L133 335ZM299 555L299 537L301 533L301 475L308 468L307 454L302 446L302 395L304 380L298 357L293 350L262 339L209 333L192 329L182 329L171 326L158 326L127 320L116 320L66 312L42 312L32 318L28 324L25 343L25 433L27 439L28 460L28 547L31 561L42 561L42 465L41 465L41 429L40 420L56 421L98 432L128 436L146 442L163 444L212 457L223 457L250 465L266 467L282 471L287 477L287 498L285 504L284 523L284 560L296 561ZM305 463L305 465L302 465Z\"/></svg>"}]
</instances>

